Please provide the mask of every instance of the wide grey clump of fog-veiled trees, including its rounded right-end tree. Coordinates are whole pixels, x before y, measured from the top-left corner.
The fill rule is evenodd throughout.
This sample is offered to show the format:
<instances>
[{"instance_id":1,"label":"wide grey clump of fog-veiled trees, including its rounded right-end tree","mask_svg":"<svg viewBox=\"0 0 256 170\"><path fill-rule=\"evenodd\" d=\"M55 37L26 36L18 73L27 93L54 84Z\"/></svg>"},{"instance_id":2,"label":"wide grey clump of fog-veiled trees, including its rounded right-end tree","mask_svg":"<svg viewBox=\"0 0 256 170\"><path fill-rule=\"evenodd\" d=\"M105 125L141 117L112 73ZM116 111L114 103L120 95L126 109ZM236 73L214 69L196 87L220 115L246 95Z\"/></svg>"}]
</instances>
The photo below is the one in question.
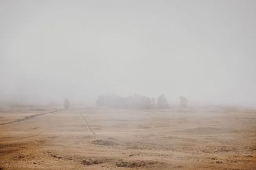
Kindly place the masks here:
<instances>
[{"instance_id":1,"label":"wide grey clump of fog-veiled trees, including its rounded right-end tree","mask_svg":"<svg viewBox=\"0 0 256 170\"><path fill-rule=\"evenodd\" d=\"M111 108L169 108L167 99L163 94L157 97L157 102L152 97L150 99L147 96L129 96L129 97L120 97L116 94L106 94L99 96L96 101L97 106L106 106Z\"/></svg>"}]
</instances>

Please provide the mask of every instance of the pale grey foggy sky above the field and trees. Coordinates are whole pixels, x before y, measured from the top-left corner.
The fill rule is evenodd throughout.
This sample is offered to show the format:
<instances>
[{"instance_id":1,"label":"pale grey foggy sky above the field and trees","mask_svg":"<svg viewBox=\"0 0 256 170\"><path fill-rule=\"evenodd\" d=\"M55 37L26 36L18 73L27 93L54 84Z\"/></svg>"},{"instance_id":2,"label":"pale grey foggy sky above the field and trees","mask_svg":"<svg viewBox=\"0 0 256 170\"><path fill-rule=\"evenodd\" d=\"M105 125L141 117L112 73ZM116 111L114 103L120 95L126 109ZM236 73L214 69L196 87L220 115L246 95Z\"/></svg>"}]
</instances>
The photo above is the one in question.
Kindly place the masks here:
<instances>
[{"instance_id":1,"label":"pale grey foggy sky above the field and trees","mask_svg":"<svg viewBox=\"0 0 256 170\"><path fill-rule=\"evenodd\" d=\"M0 0L0 101L256 106L256 1Z\"/></svg>"}]
</instances>

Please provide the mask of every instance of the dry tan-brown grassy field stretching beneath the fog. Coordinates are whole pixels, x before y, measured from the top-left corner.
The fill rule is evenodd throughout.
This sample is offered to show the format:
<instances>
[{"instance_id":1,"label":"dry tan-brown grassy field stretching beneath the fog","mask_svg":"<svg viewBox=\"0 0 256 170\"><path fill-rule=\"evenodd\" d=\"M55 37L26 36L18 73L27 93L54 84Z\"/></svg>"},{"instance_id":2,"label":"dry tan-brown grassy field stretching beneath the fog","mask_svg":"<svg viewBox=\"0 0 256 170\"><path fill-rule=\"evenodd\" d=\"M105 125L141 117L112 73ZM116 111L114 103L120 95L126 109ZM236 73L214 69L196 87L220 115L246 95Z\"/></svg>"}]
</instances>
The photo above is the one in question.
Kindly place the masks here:
<instances>
[{"instance_id":1,"label":"dry tan-brown grassy field stretching beneath the fog","mask_svg":"<svg viewBox=\"0 0 256 170\"><path fill-rule=\"evenodd\" d=\"M256 169L256 111L0 110L0 169Z\"/></svg>"}]
</instances>

